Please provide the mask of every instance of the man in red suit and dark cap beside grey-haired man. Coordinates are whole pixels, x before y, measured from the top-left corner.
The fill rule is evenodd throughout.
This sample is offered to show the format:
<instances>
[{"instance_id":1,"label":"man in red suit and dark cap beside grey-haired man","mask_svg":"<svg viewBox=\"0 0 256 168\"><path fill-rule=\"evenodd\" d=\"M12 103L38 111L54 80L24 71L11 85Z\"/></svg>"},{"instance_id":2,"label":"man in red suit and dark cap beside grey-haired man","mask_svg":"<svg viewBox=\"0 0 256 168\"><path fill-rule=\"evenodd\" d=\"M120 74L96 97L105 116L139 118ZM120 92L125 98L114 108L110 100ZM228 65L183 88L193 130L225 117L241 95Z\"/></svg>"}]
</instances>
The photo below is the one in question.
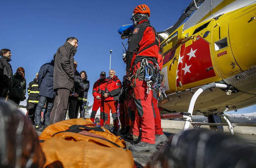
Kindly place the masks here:
<instances>
[{"instance_id":1,"label":"man in red suit and dark cap beside grey-haired man","mask_svg":"<svg viewBox=\"0 0 256 168\"><path fill-rule=\"evenodd\" d=\"M90 119L92 120L92 122L94 122L95 115L100 107L100 126L103 126L104 123L104 97L101 96L101 88L104 86L105 79L106 72L102 71L100 73L100 78L94 83L92 90L94 102Z\"/></svg>"}]
</instances>

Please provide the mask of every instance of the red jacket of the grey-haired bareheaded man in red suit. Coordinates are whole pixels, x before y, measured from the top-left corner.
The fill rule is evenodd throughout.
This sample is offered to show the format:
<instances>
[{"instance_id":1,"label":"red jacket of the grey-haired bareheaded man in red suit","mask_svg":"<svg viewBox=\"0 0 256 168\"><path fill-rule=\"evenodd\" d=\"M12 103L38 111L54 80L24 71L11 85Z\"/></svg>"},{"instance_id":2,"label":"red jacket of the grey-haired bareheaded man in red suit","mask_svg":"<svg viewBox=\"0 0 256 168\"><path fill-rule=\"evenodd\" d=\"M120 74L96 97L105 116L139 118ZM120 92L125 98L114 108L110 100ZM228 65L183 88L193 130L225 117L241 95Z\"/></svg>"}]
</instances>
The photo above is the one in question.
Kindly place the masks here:
<instances>
[{"instance_id":1,"label":"red jacket of the grey-haired bareheaded man in red suit","mask_svg":"<svg viewBox=\"0 0 256 168\"><path fill-rule=\"evenodd\" d=\"M107 93L108 97L105 98L105 101L118 100L121 86L122 83L116 75L111 79L106 79L101 88L101 96L104 97L104 93Z\"/></svg>"}]
</instances>

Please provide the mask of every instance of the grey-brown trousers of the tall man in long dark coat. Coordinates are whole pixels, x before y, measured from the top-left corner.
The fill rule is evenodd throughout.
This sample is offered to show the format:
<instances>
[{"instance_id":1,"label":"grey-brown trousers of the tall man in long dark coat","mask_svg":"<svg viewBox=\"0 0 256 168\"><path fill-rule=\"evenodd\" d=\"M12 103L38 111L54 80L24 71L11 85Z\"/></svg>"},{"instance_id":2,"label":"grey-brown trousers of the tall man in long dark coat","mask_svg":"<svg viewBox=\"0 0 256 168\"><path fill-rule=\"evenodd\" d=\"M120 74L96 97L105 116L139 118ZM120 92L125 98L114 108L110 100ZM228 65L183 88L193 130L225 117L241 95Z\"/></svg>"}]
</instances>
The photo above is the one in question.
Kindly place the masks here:
<instances>
[{"instance_id":1,"label":"grey-brown trousers of the tall man in long dark coat","mask_svg":"<svg viewBox=\"0 0 256 168\"><path fill-rule=\"evenodd\" d=\"M69 93L70 91L68 89L58 89L56 91L50 124L65 120Z\"/></svg>"}]
</instances>

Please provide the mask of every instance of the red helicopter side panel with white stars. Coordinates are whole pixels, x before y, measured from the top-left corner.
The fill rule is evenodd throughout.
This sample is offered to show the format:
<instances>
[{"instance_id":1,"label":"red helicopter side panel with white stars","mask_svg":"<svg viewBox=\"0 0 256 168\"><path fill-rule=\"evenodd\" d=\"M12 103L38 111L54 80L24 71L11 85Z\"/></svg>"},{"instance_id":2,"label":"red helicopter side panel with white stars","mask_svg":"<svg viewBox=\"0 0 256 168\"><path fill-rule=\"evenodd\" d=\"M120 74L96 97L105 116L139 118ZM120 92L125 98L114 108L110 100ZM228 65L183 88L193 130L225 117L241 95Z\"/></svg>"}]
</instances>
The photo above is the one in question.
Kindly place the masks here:
<instances>
[{"instance_id":1,"label":"red helicopter side panel with white stars","mask_svg":"<svg viewBox=\"0 0 256 168\"><path fill-rule=\"evenodd\" d=\"M188 46L185 45L186 43L181 46L177 87L180 86L179 81L182 85L186 85L216 76L211 60L210 44L200 36L190 42L192 44Z\"/></svg>"}]
</instances>

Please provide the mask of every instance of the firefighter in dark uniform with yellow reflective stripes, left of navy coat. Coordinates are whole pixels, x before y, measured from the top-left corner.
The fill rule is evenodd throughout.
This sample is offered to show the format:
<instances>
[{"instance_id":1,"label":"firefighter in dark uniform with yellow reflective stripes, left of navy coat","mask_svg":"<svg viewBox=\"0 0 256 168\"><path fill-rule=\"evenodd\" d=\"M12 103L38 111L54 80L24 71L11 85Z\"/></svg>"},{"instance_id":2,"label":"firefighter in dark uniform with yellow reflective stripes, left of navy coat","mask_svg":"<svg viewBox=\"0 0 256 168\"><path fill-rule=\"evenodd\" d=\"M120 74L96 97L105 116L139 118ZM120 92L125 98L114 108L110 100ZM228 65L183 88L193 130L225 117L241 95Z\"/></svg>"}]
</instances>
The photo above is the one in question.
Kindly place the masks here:
<instances>
[{"instance_id":1,"label":"firefighter in dark uniform with yellow reflective stripes, left of navy coat","mask_svg":"<svg viewBox=\"0 0 256 168\"><path fill-rule=\"evenodd\" d=\"M39 87L37 81L38 73L36 73L36 78L31 81L28 85L28 104L27 104L27 115L32 124L35 124L35 110L37 103L39 102Z\"/></svg>"}]
</instances>

